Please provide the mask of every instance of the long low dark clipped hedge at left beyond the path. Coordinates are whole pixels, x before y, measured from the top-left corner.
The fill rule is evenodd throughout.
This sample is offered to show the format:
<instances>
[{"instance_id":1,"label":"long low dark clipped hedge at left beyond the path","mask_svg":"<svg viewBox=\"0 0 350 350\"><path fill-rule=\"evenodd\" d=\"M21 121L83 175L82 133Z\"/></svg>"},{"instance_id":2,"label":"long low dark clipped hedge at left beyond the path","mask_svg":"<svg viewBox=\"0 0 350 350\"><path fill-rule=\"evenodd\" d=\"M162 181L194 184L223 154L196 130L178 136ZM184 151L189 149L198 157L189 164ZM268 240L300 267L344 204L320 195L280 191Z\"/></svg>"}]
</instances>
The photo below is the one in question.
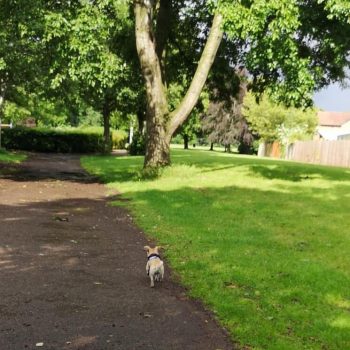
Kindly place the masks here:
<instances>
[{"instance_id":1,"label":"long low dark clipped hedge at left beyond the path","mask_svg":"<svg viewBox=\"0 0 350 350\"><path fill-rule=\"evenodd\" d=\"M95 153L104 150L101 133L78 129L4 129L2 143L7 149L37 152Z\"/></svg>"}]
</instances>

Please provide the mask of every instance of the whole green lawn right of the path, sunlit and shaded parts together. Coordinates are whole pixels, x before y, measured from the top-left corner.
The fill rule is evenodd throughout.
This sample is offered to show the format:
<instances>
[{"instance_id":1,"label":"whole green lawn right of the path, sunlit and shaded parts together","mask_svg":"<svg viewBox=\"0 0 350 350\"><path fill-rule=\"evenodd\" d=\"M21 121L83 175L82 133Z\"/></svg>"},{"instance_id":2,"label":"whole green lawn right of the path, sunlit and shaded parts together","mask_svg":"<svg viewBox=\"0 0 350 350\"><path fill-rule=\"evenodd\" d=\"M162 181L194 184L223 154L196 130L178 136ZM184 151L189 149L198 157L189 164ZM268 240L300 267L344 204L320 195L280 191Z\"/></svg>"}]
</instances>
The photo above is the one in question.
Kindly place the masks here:
<instances>
[{"instance_id":1,"label":"whole green lawn right of the path, sunlit and shaded parts together","mask_svg":"<svg viewBox=\"0 0 350 350\"><path fill-rule=\"evenodd\" d=\"M192 297L252 349L350 349L350 170L173 150L157 180L141 157L84 157L165 247Z\"/></svg>"}]
</instances>

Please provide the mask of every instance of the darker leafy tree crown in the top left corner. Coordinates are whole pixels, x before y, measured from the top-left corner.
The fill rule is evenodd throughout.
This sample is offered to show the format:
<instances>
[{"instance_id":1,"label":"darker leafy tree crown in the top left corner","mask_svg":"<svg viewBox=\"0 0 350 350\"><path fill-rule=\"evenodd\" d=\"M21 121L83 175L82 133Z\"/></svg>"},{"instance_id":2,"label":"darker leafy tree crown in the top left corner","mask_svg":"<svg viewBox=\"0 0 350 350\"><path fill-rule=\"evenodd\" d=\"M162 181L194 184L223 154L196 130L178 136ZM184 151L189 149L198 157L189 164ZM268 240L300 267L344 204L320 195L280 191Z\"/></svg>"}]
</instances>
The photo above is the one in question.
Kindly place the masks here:
<instances>
[{"instance_id":1,"label":"darker leafy tree crown in the top left corner","mask_svg":"<svg viewBox=\"0 0 350 350\"><path fill-rule=\"evenodd\" d=\"M42 1L0 1L0 117L18 88L40 84L43 60Z\"/></svg>"}]
</instances>

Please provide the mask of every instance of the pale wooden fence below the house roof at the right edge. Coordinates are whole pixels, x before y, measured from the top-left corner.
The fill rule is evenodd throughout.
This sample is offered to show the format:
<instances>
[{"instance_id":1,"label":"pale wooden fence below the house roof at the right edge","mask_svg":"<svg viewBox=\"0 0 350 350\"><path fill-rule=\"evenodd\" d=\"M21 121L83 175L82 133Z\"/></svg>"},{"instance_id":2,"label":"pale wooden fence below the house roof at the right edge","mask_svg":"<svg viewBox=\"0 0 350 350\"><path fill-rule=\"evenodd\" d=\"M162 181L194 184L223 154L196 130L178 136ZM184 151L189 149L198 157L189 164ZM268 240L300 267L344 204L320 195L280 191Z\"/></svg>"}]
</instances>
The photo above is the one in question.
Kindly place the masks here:
<instances>
[{"instance_id":1,"label":"pale wooden fence below the house roof at the right edge","mask_svg":"<svg viewBox=\"0 0 350 350\"><path fill-rule=\"evenodd\" d=\"M286 159L350 167L350 140L297 141L288 147Z\"/></svg>"}]
</instances>

